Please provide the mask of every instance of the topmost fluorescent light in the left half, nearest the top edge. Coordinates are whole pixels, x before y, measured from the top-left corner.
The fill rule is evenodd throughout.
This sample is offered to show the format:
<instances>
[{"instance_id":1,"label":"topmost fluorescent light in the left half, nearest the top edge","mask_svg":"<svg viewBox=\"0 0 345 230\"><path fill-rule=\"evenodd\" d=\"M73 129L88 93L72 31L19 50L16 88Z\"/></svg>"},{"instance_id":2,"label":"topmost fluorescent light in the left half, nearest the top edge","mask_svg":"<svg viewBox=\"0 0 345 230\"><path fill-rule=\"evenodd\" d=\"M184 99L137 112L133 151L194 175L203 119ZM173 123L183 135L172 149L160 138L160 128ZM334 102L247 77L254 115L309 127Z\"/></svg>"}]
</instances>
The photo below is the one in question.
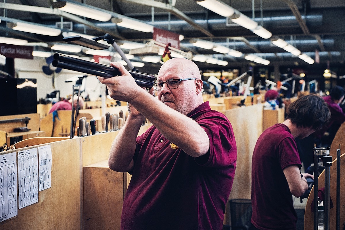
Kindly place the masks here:
<instances>
[{"instance_id":1,"label":"topmost fluorescent light in the left half, nearest the top edge","mask_svg":"<svg viewBox=\"0 0 345 230\"><path fill-rule=\"evenodd\" d=\"M85 18L95 19L98 21L106 22L111 19L110 13L105 12L105 10L103 9L98 9L87 4L55 0L53 1L52 6L68 13L76 14Z\"/></svg>"}]
</instances>

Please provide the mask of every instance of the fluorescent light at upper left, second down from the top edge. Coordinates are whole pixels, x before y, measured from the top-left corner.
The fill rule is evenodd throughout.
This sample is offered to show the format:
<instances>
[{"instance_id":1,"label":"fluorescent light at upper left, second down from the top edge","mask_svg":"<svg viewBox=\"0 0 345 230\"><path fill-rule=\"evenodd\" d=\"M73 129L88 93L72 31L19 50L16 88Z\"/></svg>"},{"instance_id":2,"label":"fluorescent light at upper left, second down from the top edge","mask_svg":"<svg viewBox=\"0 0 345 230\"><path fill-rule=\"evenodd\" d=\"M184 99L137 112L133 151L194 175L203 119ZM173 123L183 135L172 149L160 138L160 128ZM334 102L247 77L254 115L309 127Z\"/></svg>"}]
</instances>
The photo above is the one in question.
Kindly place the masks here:
<instances>
[{"instance_id":1,"label":"fluorescent light at upper left, second down from the top edge","mask_svg":"<svg viewBox=\"0 0 345 230\"><path fill-rule=\"evenodd\" d=\"M7 22L7 27L12 28L13 30L19 30L28 33L37 33L48 36L58 36L61 33L60 29L27 22Z\"/></svg>"}]
</instances>

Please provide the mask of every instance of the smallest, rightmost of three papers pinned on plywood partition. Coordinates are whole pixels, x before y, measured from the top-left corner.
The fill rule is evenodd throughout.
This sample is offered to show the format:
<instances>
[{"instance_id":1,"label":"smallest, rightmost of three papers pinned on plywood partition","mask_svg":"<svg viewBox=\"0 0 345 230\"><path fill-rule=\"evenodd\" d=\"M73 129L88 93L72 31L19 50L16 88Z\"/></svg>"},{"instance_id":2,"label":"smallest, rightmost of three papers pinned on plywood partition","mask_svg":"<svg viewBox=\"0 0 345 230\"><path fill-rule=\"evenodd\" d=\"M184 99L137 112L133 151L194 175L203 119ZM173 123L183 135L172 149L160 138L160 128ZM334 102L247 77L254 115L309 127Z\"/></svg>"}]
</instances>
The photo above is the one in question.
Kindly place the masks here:
<instances>
[{"instance_id":1,"label":"smallest, rightmost of three papers pinned on plywood partition","mask_svg":"<svg viewBox=\"0 0 345 230\"><path fill-rule=\"evenodd\" d=\"M51 187L51 149L50 145L38 147L40 167L38 171L39 191Z\"/></svg>"}]
</instances>

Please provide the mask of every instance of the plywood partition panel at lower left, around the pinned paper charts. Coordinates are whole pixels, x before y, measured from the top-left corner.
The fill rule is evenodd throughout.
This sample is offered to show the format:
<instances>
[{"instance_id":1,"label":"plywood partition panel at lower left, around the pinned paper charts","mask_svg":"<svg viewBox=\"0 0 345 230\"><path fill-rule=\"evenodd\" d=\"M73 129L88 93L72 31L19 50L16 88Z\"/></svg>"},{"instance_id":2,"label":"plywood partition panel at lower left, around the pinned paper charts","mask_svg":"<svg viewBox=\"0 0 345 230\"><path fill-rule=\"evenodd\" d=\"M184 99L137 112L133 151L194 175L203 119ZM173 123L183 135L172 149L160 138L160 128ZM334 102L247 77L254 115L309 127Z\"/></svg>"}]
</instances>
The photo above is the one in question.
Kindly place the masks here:
<instances>
[{"instance_id":1,"label":"plywood partition panel at lower left, around the pinned paper charts","mask_svg":"<svg viewBox=\"0 0 345 230\"><path fill-rule=\"evenodd\" d=\"M0 229L81 229L80 140L68 139L50 146L51 188L38 193L38 203L19 209L18 216L0 222ZM37 146L16 149L16 152L30 148Z\"/></svg>"}]
</instances>

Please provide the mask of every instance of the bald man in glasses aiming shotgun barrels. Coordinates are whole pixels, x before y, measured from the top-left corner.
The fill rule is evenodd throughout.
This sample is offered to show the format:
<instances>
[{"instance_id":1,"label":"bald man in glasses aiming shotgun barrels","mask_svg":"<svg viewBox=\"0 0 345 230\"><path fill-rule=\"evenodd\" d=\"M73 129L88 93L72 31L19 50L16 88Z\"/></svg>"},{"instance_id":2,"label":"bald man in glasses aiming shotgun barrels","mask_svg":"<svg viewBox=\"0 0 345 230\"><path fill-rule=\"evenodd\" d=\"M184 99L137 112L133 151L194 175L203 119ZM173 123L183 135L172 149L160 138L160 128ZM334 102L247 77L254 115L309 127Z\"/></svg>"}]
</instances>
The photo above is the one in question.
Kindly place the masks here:
<instances>
[{"instance_id":1,"label":"bald man in glasses aiming shotgun barrels","mask_svg":"<svg viewBox=\"0 0 345 230\"><path fill-rule=\"evenodd\" d=\"M110 149L109 168L132 174L121 229L217 229L236 167L236 142L224 114L203 101L196 64L173 58L159 70L153 90L122 76L99 80L109 95L129 102L129 116ZM137 137L145 117L152 122Z\"/></svg>"}]
</instances>

